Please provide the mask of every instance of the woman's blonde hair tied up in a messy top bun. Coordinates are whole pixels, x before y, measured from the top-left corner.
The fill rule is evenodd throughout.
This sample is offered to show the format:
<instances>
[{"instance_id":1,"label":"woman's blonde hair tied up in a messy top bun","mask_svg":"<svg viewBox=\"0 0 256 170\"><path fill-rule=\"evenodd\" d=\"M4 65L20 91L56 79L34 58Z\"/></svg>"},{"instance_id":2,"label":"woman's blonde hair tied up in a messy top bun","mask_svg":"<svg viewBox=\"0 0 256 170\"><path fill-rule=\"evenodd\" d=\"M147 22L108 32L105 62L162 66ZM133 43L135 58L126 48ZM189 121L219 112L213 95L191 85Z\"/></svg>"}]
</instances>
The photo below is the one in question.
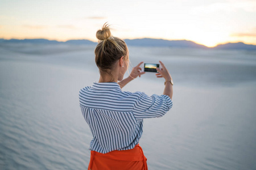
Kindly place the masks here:
<instances>
[{"instance_id":1,"label":"woman's blonde hair tied up in a messy top bun","mask_svg":"<svg viewBox=\"0 0 256 170\"><path fill-rule=\"evenodd\" d=\"M94 50L95 62L101 73L108 73L110 70L113 70L114 63L122 56L125 58L127 56L125 41L118 37L113 37L109 26L109 24L105 23L102 29L98 29L96 32L98 44Z\"/></svg>"}]
</instances>

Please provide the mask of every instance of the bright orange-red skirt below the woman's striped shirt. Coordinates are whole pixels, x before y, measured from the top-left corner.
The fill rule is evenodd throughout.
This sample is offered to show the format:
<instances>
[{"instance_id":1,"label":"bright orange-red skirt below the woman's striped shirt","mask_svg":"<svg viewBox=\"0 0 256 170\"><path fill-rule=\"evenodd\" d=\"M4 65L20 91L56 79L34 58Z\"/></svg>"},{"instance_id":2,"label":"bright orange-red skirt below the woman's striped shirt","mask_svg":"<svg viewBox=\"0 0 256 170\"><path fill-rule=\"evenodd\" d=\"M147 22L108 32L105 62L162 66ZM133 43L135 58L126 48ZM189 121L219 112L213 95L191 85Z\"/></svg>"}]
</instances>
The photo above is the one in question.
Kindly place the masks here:
<instances>
[{"instance_id":1,"label":"bright orange-red skirt below the woman's striped shirt","mask_svg":"<svg viewBox=\"0 0 256 170\"><path fill-rule=\"evenodd\" d=\"M139 145L131 150L111 151L106 154L90 151L88 170L147 170L146 161L147 158Z\"/></svg>"}]
</instances>

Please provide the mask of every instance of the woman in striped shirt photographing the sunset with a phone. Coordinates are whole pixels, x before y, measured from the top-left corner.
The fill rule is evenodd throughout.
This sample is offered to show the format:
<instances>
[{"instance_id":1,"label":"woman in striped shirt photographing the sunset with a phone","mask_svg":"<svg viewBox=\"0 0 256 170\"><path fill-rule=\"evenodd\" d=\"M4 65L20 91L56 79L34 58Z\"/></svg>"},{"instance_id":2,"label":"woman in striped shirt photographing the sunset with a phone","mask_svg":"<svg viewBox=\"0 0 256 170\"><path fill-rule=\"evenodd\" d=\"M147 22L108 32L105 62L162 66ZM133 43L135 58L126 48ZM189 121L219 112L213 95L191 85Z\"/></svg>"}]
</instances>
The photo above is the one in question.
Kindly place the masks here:
<instances>
[{"instance_id":1,"label":"woman in striped shirt photographing the sunset with a phone","mask_svg":"<svg viewBox=\"0 0 256 170\"><path fill-rule=\"evenodd\" d=\"M163 116L172 107L172 78L162 62L157 77L165 79L163 95L147 96L121 88L141 76L141 63L123 79L129 65L125 41L111 35L109 25L98 30L94 51L100 80L79 92L80 107L93 134L88 169L147 169L139 146L143 119Z\"/></svg>"}]
</instances>

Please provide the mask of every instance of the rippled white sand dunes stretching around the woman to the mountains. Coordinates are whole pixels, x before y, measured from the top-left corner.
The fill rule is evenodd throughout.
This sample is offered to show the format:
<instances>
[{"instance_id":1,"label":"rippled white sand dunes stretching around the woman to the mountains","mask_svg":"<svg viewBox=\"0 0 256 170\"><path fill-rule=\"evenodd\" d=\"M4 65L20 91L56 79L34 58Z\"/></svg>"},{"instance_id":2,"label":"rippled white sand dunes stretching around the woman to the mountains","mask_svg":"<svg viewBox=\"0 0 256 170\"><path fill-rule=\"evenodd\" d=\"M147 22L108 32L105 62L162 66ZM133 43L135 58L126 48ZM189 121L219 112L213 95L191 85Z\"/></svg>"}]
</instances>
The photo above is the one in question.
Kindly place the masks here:
<instances>
[{"instance_id":1,"label":"rippled white sand dunes stretching around the woman to the mountains","mask_svg":"<svg viewBox=\"0 0 256 170\"><path fill-rule=\"evenodd\" d=\"M255 52L129 50L131 65L161 60L175 83L171 111L144 120L149 169L256 169ZM94 46L2 44L0 78L0 169L86 169L78 92L99 78ZM123 90L162 94L163 82L147 73Z\"/></svg>"}]
</instances>

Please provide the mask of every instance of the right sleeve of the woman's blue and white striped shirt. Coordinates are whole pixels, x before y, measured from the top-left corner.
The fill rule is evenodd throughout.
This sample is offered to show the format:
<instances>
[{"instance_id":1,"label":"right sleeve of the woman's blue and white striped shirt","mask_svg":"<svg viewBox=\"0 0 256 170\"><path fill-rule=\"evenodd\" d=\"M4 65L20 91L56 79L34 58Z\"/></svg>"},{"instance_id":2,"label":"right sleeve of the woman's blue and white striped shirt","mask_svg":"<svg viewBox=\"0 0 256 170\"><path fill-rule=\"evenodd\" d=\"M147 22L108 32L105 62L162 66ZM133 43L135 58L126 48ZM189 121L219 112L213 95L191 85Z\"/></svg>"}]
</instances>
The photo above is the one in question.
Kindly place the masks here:
<instances>
[{"instance_id":1,"label":"right sleeve of the woman's blue and white striped shirt","mask_svg":"<svg viewBox=\"0 0 256 170\"><path fill-rule=\"evenodd\" d=\"M169 96L148 96L144 94L144 92L141 92L138 96L138 100L135 101L133 113L137 119L162 117L171 107L172 100Z\"/></svg>"}]
</instances>

